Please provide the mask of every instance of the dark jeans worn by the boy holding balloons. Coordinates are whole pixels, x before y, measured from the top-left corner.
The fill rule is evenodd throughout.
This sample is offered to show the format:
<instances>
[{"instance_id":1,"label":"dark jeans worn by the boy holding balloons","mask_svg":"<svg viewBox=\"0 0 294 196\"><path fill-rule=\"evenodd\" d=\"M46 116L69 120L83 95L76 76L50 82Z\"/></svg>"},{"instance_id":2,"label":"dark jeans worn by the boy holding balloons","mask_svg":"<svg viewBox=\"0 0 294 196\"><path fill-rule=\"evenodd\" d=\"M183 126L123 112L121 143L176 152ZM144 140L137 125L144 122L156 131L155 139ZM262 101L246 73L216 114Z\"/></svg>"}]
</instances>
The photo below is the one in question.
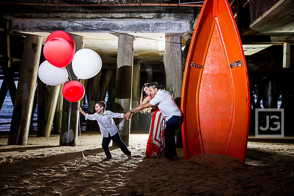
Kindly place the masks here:
<instances>
[{"instance_id":1,"label":"dark jeans worn by the boy holding balloons","mask_svg":"<svg viewBox=\"0 0 294 196\"><path fill-rule=\"evenodd\" d=\"M116 134L114 134L113 136L111 136L108 133L108 137L107 138L103 137L103 139L102 139L102 148L103 148L107 158L112 159L112 156L109 151L109 143L111 140L114 141L115 144L117 144L119 146L119 148L122 150L122 152L124 154L126 154L127 156L129 156L131 154L131 151L129 151L128 147L125 145L125 143L120 138L119 132L116 132Z\"/></svg>"}]
</instances>

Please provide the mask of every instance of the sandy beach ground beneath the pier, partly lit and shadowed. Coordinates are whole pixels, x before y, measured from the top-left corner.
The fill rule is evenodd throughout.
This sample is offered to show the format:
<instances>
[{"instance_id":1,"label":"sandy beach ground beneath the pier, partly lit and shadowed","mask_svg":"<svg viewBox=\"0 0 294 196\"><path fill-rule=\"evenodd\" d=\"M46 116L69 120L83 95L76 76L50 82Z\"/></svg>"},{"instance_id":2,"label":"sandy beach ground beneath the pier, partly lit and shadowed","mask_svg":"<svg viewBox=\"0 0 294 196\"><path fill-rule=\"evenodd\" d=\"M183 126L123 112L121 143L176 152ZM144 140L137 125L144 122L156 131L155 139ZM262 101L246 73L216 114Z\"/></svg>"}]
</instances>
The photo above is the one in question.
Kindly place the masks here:
<instances>
[{"instance_id":1,"label":"sandy beach ground beneath the pier, partly lit and shadowed","mask_svg":"<svg viewBox=\"0 0 294 196\"><path fill-rule=\"evenodd\" d=\"M102 136L82 132L80 146L60 147L59 135L29 135L27 146L0 138L0 195L294 195L294 137L249 138L245 164L225 155L202 154L178 161L143 159L148 134L131 134L133 158ZM79 143L79 138L78 138Z\"/></svg>"}]
</instances>

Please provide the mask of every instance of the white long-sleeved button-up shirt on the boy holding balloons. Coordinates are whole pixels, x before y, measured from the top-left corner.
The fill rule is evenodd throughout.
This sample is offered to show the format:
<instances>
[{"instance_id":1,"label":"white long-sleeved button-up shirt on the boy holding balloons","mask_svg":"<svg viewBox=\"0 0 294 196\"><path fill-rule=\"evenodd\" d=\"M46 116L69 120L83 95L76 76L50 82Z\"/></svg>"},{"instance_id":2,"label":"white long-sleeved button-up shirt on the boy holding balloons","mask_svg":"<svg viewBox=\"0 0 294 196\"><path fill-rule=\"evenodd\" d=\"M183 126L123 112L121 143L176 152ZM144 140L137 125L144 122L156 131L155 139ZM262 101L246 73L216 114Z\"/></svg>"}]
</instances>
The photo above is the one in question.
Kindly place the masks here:
<instances>
[{"instance_id":1,"label":"white long-sleeved button-up shirt on the boy holding balloons","mask_svg":"<svg viewBox=\"0 0 294 196\"><path fill-rule=\"evenodd\" d=\"M113 136L117 132L117 127L112 118L124 118L124 114L114 113L109 110L104 110L102 115L98 113L90 114L90 115L86 114L85 118L86 120L87 119L96 120L99 124L102 136L107 138L108 133L110 133L110 135Z\"/></svg>"}]
</instances>

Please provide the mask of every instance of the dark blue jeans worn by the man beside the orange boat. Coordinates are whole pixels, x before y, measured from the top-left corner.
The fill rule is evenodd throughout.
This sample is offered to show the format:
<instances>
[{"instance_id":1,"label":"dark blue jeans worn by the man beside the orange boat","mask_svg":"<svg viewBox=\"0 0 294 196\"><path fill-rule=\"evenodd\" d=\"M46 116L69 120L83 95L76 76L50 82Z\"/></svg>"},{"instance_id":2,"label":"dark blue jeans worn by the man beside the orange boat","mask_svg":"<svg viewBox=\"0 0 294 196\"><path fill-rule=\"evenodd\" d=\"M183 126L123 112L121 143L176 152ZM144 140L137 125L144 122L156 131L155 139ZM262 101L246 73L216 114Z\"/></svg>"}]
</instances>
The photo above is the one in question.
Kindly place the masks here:
<instances>
[{"instance_id":1,"label":"dark blue jeans worn by the man beside the orange boat","mask_svg":"<svg viewBox=\"0 0 294 196\"><path fill-rule=\"evenodd\" d=\"M172 116L166 122L164 129L164 139L165 139L165 158L173 159L177 156L177 151L175 149L175 130L178 128L178 123L182 122L182 116Z\"/></svg>"}]
</instances>

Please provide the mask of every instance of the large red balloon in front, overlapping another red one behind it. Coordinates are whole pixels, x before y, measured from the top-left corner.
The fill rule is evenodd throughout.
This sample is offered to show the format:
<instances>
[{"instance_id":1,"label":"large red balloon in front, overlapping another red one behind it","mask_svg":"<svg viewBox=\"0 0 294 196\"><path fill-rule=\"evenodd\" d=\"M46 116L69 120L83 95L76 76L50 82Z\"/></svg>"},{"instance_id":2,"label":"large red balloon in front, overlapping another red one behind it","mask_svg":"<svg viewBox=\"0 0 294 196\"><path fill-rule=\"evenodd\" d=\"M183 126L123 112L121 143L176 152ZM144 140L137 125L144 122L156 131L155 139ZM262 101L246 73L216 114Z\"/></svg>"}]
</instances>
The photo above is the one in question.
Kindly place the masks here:
<instances>
[{"instance_id":1,"label":"large red balloon in front, overlapping another red one behind it","mask_svg":"<svg viewBox=\"0 0 294 196\"><path fill-rule=\"evenodd\" d=\"M52 38L45 43L43 53L51 65L66 67L72 61L75 51L67 40Z\"/></svg>"}]
</instances>

